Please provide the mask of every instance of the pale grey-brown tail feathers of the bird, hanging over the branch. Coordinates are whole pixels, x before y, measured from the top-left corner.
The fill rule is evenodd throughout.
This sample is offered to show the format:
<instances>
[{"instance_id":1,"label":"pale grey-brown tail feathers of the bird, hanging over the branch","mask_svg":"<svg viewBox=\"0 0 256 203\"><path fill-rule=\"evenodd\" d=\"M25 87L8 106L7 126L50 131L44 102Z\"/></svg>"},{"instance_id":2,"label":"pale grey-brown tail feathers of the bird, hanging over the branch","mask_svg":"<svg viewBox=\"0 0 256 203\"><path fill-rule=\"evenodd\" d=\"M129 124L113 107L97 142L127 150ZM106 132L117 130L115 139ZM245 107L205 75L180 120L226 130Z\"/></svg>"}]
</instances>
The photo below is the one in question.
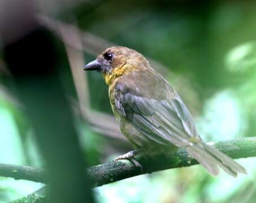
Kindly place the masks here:
<instances>
[{"instance_id":1,"label":"pale grey-brown tail feathers of the bird, hanging over the branch","mask_svg":"<svg viewBox=\"0 0 256 203\"><path fill-rule=\"evenodd\" d=\"M212 175L219 174L219 167L234 177L237 173L247 174L244 167L211 145L199 142L187 146L186 149Z\"/></svg>"}]
</instances>

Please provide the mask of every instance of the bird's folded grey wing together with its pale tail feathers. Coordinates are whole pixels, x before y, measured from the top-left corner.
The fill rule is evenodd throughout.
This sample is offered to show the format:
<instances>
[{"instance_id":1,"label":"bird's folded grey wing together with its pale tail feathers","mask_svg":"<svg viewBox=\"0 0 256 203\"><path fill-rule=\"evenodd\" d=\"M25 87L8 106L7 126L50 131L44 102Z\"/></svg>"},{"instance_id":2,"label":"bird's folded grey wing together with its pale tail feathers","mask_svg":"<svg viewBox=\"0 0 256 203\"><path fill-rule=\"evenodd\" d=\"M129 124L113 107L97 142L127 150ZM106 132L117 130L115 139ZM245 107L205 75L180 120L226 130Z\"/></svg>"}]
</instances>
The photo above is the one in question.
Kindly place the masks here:
<instances>
[{"instance_id":1,"label":"bird's folded grey wing together with its pale tail feathers","mask_svg":"<svg viewBox=\"0 0 256 203\"><path fill-rule=\"evenodd\" d=\"M162 95L163 92L153 94L149 93L149 89L150 87L145 89L143 86L136 88L134 83L129 86L125 82L116 86L116 109L138 131L155 143L172 143L177 147L185 147L212 175L219 174L219 167L232 176L237 176L238 172L246 174L244 167L232 158L202 142L191 114L171 86L164 89L167 96L162 98L154 95ZM157 88L155 91L161 90ZM153 94L153 97L150 97L150 94Z\"/></svg>"}]
</instances>

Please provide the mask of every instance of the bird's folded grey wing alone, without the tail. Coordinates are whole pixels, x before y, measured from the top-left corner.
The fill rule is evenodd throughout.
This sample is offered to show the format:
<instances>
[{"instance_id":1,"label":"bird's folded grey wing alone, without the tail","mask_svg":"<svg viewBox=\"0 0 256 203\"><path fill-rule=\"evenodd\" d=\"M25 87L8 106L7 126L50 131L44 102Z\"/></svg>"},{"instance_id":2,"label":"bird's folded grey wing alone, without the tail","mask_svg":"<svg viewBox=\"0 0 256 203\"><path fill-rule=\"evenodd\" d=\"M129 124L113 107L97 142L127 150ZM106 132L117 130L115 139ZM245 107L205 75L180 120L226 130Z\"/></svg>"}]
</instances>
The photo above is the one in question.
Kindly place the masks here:
<instances>
[{"instance_id":1,"label":"bird's folded grey wing alone, without the tail","mask_svg":"<svg viewBox=\"0 0 256 203\"><path fill-rule=\"evenodd\" d=\"M184 147L192 142L192 138L199 139L192 116L174 90L171 89L172 96L168 96L168 87L155 90L167 94L165 99L154 98L155 94L152 98L145 96L149 95L145 93L147 91L143 87L133 88L125 82L119 83L114 96L116 109L142 134L159 144Z\"/></svg>"}]
</instances>

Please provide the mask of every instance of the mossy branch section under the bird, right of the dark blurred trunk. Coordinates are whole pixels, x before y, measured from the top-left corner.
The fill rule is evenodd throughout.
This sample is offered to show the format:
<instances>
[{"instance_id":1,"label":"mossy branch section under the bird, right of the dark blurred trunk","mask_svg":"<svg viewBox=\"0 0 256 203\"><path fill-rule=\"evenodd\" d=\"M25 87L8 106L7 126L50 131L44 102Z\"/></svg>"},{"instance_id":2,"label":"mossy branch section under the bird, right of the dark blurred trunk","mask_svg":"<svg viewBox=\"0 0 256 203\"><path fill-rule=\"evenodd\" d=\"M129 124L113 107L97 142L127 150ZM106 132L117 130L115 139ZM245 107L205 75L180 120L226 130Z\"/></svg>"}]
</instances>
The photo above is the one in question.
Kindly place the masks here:
<instances>
[{"instance_id":1,"label":"mossy branch section under the bird, right of the dark blurred trunk","mask_svg":"<svg viewBox=\"0 0 256 203\"><path fill-rule=\"evenodd\" d=\"M213 145L234 159L256 156L256 137L233 139L214 143ZM93 180L94 186L97 187L140 174L198 164L184 148L180 148L172 155L170 152L156 153L150 157L135 156L135 159L142 165L143 173L132 162L122 160L90 167L88 169L89 177Z\"/></svg>"}]
</instances>

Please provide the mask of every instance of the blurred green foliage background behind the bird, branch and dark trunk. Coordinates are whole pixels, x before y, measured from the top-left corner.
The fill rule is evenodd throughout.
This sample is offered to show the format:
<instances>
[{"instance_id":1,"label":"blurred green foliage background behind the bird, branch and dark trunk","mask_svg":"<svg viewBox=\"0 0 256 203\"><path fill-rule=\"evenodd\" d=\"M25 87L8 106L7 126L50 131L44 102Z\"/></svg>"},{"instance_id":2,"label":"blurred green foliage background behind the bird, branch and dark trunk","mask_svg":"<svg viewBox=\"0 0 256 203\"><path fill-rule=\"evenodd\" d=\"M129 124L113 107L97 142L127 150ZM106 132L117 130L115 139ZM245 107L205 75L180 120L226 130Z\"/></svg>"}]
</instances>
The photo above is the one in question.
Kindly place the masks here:
<instances>
[{"instance_id":1,"label":"blurred green foliage background behind the bird, branch and dark trunk","mask_svg":"<svg viewBox=\"0 0 256 203\"><path fill-rule=\"evenodd\" d=\"M33 1L37 23L63 45L56 47L58 71L87 165L132 149L112 116L101 74L82 70L113 45L150 60L179 92L206 142L255 136L255 10L254 1ZM0 52L0 163L44 166L11 78ZM255 161L238 160L248 175L236 179L192 166L107 184L93 195L96 202L254 202ZM42 186L0 177L0 202Z\"/></svg>"}]
</instances>

